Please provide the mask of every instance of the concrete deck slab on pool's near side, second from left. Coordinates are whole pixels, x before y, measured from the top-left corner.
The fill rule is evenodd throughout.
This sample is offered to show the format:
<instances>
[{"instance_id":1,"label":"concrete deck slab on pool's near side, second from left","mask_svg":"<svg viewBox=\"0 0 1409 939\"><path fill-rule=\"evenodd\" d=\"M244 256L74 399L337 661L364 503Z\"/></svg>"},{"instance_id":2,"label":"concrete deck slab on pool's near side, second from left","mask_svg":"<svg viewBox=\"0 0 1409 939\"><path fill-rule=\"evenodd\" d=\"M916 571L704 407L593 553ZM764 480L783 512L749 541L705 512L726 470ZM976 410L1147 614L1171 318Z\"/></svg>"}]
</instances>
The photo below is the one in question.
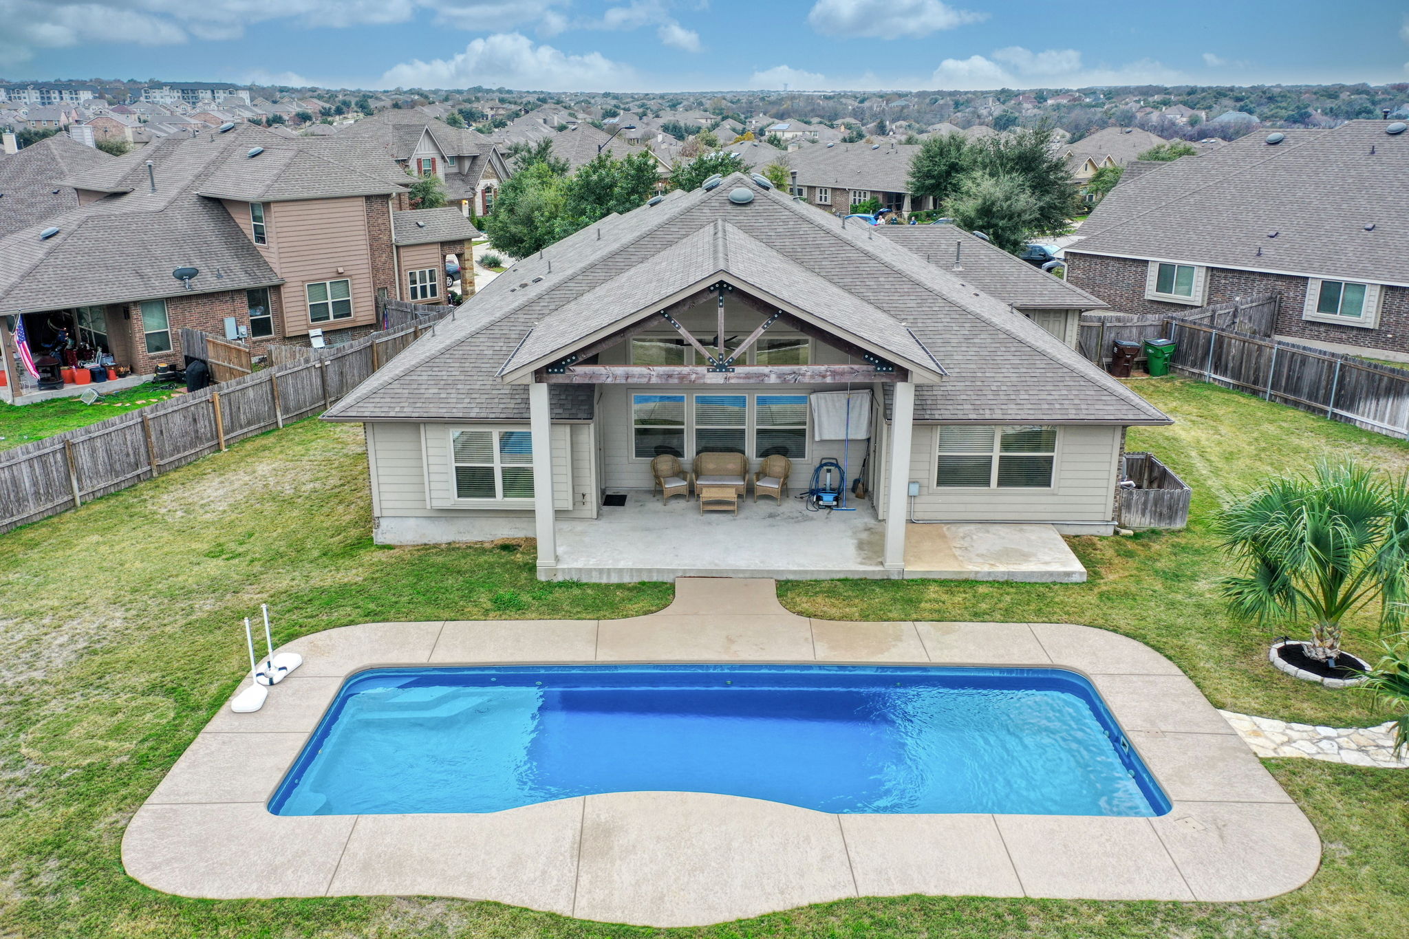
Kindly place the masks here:
<instances>
[{"instance_id":1,"label":"concrete deck slab on pool's near side, second from left","mask_svg":"<svg viewBox=\"0 0 1409 939\"><path fill-rule=\"evenodd\" d=\"M572 915L582 802L359 815L328 895L434 894Z\"/></svg>"}]
</instances>

